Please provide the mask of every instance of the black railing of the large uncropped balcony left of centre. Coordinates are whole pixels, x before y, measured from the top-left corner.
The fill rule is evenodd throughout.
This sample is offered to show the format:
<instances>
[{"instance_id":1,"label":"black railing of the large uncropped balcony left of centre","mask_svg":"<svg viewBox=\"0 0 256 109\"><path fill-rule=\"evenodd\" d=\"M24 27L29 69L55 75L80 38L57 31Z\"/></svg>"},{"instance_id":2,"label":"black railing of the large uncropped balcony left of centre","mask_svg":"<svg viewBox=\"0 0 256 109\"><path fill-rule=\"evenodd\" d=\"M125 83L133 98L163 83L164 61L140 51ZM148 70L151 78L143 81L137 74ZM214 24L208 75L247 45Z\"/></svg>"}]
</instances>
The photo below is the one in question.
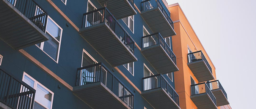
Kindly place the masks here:
<instances>
[{"instance_id":1,"label":"black railing of the large uncropped balcony left of centre","mask_svg":"<svg viewBox=\"0 0 256 109\"><path fill-rule=\"evenodd\" d=\"M124 31L124 36L118 36L118 38L121 40L121 38L123 38L124 37L124 39L123 40L125 40L123 43L126 45L126 47L129 49L129 51L131 51L133 54L134 54L134 49L135 49L135 41L133 40L133 38L129 35L129 33L126 31L126 29L124 29L124 27L118 22L118 20L116 20L116 18L113 16L113 14L107 9L107 7L103 7L103 8L100 8L100 9L96 9L96 10L94 10L94 11L90 11L90 12L86 12L86 13L84 13L83 14L83 22L82 22L82 28L85 28L85 27L89 27L89 26L85 26L84 25L84 21L87 21L86 19L84 19L84 17L86 16L86 15L88 15L88 14L92 14L92 13L94 13L94 12L98 12L98 11L101 11L101 10L104 10L104 11L106 11L106 12L103 12L103 13L101 13L102 14L102 22L100 22L100 23L107 23L106 22L106 14L109 14L110 16L111 16L111 18L113 18L113 21L112 21L112 23L114 24L114 25L116 25L116 26L118 26L119 28L117 28L116 26L115 26L115 30L113 30L111 27L111 29L113 30L113 32L115 33L115 35L117 35L118 36L118 32L119 31L117 31L117 29L121 29L121 30L123 30ZM109 16L109 17L110 17ZM93 24L94 25L94 24ZM120 34L120 33L119 33ZM127 35L127 36L126 36ZM129 38L129 41L127 41L127 39L126 38ZM130 47L130 48L129 48Z\"/></svg>"}]
</instances>

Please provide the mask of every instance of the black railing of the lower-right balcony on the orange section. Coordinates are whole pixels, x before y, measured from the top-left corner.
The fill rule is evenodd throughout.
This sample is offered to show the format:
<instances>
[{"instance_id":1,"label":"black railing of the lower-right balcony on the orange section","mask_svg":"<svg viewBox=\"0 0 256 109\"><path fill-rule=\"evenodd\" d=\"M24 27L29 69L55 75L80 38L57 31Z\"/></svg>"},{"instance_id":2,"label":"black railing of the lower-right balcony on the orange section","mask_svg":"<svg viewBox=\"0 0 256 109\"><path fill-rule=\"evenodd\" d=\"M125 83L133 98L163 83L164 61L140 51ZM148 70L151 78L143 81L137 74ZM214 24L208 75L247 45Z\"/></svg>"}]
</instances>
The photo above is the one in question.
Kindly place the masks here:
<instances>
[{"instance_id":1,"label":"black railing of the lower-right balcony on the orange section","mask_svg":"<svg viewBox=\"0 0 256 109\"><path fill-rule=\"evenodd\" d=\"M224 90L224 88L222 87L222 85L220 84L219 80L207 82L206 84L210 88L210 90L220 89L223 92L223 94L225 95L225 97L228 99L227 93Z\"/></svg>"}]
</instances>

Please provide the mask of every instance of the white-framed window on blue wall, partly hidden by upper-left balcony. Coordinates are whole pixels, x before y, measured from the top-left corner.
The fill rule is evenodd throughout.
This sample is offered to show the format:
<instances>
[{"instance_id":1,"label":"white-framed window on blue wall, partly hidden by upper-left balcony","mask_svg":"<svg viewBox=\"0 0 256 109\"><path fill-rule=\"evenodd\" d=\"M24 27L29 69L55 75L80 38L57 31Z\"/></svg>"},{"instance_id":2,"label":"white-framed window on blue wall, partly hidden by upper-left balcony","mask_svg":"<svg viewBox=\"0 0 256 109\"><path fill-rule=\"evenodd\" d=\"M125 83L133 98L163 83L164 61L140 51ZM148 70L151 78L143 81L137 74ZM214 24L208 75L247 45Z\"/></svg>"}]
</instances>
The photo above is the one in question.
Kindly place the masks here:
<instances>
[{"instance_id":1,"label":"white-framed window on blue wall, partly hidden by upper-left balcony","mask_svg":"<svg viewBox=\"0 0 256 109\"><path fill-rule=\"evenodd\" d=\"M46 34L50 36L49 40L36 45L58 63L62 29L49 16L47 20Z\"/></svg>"}]
</instances>

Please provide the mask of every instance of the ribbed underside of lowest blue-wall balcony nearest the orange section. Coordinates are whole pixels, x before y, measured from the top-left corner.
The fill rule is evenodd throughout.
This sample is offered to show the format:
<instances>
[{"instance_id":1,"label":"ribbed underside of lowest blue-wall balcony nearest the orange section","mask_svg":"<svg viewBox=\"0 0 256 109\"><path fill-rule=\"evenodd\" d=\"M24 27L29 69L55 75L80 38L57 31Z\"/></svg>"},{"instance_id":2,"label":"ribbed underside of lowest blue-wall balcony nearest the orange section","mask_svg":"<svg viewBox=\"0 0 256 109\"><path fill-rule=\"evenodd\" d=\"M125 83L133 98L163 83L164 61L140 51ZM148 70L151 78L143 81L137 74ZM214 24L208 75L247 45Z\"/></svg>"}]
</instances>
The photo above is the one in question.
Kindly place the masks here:
<instances>
[{"instance_id":1,"label":"ribbed underside of lowest blue-wall balcony nearest the orange section","mask_svg":"<svg viewBox=\"0 0 256 109\"><path fill-rule=\"evenodd\" d=\"M141 92L141 95L155 109L181 109L163 88L151 89Z\"/></svg>"}]
</instances>

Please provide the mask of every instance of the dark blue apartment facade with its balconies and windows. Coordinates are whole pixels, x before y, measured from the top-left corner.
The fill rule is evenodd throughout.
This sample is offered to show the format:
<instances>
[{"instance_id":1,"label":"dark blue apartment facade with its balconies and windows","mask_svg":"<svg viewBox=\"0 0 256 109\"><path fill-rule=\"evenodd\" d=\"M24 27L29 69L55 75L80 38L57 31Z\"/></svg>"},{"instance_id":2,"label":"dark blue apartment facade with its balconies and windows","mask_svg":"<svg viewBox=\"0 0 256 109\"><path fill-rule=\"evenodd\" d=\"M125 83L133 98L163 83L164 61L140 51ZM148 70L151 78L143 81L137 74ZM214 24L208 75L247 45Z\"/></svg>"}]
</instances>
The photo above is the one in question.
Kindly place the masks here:
<instances>
[{"instance_id":1,"label":"dark blue apartment facade with its balconies and windows","mask_svg":"<svg viewBox=\"0 0 256 109\"><path fill-rule=\"evenodd\" d=\"M165 0L0 0L0 109L187 109L168 9Z\"/></svg>"}]
</instances>

